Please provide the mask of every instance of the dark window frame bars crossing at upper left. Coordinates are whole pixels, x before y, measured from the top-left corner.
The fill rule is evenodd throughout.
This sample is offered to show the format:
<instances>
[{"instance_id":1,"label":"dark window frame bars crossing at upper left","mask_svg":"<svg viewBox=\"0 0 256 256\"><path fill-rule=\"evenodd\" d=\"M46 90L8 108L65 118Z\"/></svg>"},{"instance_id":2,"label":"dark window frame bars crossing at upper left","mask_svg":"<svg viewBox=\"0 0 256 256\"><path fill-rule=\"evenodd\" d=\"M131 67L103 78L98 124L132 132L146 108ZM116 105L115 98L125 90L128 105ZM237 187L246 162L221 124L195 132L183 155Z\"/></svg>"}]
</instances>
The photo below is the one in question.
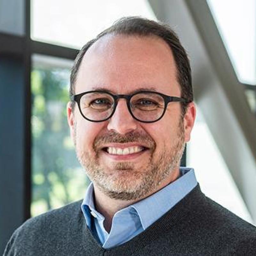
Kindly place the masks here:
<instances>
[{"instance_id":1,"label":"dark window frame bars crossing at upper left","mask_svg":"<svg viewBox=\"0 0 256 256\"><path fill-rule=\"evenodd\" d=\"M0 57L19 57L24 63L24 78L25 78L25 144L24 144L24 180L25 191L24 197L26 200L25 205L25 220L30 218L30 205L31 205L31 79L30 74L32 70L32 55L41 54L52 57L59 57L67 60L75 60L78 50L59 46L55 44L49 44L44 42L38 42L31 39L30 36L30 0L25 0L25 34L24 36L18 36L13 34L7 34L0 32ZM25 221L24 220L24 221Z\"/></svg>"}]
</instances>

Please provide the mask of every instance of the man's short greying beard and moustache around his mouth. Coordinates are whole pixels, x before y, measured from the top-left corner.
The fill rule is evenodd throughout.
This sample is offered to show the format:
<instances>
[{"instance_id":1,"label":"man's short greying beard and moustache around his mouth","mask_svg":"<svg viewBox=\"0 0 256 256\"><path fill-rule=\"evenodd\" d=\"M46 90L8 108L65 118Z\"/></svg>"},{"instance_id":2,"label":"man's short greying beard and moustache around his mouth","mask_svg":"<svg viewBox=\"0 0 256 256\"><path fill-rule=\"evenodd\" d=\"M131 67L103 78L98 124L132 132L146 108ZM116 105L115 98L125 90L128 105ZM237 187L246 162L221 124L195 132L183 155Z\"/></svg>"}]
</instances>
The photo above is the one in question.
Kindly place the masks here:
<instances>
[{"instance_id":1,"label":"man's short greying beard and moustache around his mouth","mask_svg":"<svg viewBox=\"0 0 256 256\"><path fill-rule=\"evenodd\" d=\"M74 141L76 141L76 132ZM113 162L110 170L107 170L109 167L103 167L99 163L100 150L98 148L111 142L139 142L147 145L150 151L147 164L138 170L132 162ZM138 200L154 193L158 186L180 165L184 148L183 120L180 118L177 136L172 141L172 147L167 148L164 145L162 151L157 154L156 143L146 132L129 132L124 135L109 132L95 138L94 154L89 150L76 148L76 155L94 186L97 186L106 196L119 200Z\"/></svg>"}]
</instances>

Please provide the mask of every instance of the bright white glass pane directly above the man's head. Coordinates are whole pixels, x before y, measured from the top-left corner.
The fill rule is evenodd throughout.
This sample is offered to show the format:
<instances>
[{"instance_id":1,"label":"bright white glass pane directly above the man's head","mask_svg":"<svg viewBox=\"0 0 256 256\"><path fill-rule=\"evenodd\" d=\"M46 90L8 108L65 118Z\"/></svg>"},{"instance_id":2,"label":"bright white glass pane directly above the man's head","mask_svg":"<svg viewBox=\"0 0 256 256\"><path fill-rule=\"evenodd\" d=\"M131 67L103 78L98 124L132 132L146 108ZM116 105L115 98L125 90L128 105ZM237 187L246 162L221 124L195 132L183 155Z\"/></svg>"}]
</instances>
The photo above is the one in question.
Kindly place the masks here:
<instances>
[{"instance_id":1,"label":"bright white glass pane directly above the man's head","mask_svg":"<svg viewBox=\"0 0 256 256\"><path fill-rule=\"evenodd\" d=\"M31 0L31 37L80 49L123 16L156 19L147 0Z\"/></svg>"}]
</instances>

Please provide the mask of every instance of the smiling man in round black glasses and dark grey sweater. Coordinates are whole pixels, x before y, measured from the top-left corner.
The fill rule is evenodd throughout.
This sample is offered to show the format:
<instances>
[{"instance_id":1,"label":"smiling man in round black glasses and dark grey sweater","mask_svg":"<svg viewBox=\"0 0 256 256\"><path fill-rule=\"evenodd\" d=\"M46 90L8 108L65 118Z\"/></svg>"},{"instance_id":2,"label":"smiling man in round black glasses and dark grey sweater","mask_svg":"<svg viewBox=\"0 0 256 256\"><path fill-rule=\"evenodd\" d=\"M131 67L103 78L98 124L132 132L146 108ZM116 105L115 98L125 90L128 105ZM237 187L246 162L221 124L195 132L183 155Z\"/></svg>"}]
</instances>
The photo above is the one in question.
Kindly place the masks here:
<instances>
[{"instance_id":1,"label":"smiling man in round black glasses and dark grey sweater","mask_svg":"<svg viewBox=\"0 0 256 256\"><path fill-rule=\"evenodd\" d=\"M92 180L83 201L26 221L4 255L256 255L256 229L179 168L196 109L174 32L124 18L71 72L68 124Z\"/></svg>"}]
</instances>

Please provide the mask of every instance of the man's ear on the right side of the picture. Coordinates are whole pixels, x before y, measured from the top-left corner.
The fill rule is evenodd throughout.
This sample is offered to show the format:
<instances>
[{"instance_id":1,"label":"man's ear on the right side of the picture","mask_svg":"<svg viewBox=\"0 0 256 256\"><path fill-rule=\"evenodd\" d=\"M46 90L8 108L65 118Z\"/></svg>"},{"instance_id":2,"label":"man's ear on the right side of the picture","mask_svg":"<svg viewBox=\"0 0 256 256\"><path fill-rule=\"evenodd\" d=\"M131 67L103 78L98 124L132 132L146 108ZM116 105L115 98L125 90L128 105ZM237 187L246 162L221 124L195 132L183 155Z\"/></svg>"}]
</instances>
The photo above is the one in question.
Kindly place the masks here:
<instances>
[{"instance_id":1,"label":"man's ear on the right side of the picture","mask_svg":"<svg viewBox=\"0 0 256 256\"><path fill-rule=\"evenodd\" d=\"M190 140L190 133L194 126L195 119L196 119L196 106L194 102L191 102L188 104L187 111L183 119L185 142L188 142Z\"/></svg>"}]
</instances>

